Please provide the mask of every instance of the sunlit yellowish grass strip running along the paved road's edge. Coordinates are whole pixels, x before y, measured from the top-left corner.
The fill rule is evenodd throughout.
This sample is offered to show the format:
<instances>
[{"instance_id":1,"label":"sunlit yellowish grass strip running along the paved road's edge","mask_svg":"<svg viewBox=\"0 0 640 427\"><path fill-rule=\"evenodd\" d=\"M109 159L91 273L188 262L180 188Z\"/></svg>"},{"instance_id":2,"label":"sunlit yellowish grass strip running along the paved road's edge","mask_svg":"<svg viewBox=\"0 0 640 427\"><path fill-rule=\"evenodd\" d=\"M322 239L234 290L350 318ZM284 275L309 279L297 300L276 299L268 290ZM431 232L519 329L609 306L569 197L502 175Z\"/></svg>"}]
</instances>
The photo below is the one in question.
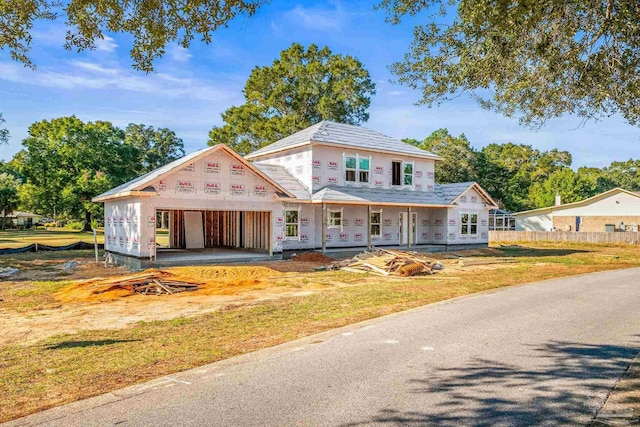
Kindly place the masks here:
<instances>
[{"instance_id":1,"label":"sunlit yellowish grass strip running along the paved road's edge","mask_svg":"<svg viewBox=\"0 0 640 427\"><path fill-rule=\"evenodd\" d=\"M508 263L502 262L505 258ZM472 251L460 261L443 262L442 273L411 278L389 279L341 271L300 273L295 279L300 287L318 282L326 284L326 289L304 296L228 306L195 317L138 322L122 329L82 331L26 345L1 346L0 390L4 403L0 405L0 422L457 296L556 277L637 267L640 248L536 243L527 248ZM278 286L278 280L272 279L269 286ZM332 286L334 282L341 286ZM28 314L37 316L38 310L51 301L52 292L61 286L55 282L19 283L15 288L7 287L4 294L0 289L0 298L10 307L19 305L24 298L33 303L33 311ZM166 299L167 304L171 304L171 297ZM5 313L11 310L5 309Z\"/></svg>"}]
</instances>

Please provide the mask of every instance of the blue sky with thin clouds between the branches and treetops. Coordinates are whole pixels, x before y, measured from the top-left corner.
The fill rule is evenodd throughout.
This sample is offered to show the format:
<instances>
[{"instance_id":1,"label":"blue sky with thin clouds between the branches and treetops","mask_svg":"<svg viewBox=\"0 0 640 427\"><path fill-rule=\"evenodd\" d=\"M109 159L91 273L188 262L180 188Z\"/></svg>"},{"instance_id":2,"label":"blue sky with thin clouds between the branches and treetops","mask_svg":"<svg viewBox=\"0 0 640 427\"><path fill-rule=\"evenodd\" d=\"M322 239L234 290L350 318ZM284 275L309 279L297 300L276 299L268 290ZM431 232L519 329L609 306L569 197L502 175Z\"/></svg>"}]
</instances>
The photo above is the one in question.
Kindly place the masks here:
<instances>
[{"instance_id":1,"label":"blue sky with thin clouds between the branches and treetops","mask_svg":"<svg viewBox=\"0 0 640 427\"><path fill-rule=\"evenodd\" d=\"M476 148L490 143L530 144L573 154L573 166L606 166L638 158L640 129L619 116L580 126L564 117L535 131L482 110L460 97L438 108L417 107L419 93L389 83L388 66L402 58L420 17L392 26L370 1L288 2L274 0L257 15L234 20L214 33L213 43L188 49L170 45L145 74L131 67L131 40L111 35L91 52L65 51L61 23L38 25L31 57L36 71L0 51L0 112L11 132L0 159L21 148L35 121L75 114L85 121L108 120L117 126L144 123L174 130L187 152L203 147L207 133L222 124L220 113L242 103L242 88L256 66L269 65L291 43L327 45L334 53L357 57L376 82L365 126L388 135L422 139L439 128L464 133ZM422 18L424 19L424 17Z\"/></svg>"}]
</instances>

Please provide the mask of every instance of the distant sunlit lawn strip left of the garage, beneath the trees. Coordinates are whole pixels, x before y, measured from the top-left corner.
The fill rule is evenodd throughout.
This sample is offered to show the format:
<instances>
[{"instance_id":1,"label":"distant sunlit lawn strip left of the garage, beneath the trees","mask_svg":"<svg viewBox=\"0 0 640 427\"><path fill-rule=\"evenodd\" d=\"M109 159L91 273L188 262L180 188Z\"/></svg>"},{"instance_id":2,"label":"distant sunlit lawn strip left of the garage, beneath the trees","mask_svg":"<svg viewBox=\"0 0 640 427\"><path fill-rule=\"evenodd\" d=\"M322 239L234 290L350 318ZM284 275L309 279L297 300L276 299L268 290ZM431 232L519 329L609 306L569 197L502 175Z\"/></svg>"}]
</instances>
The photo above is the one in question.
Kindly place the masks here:
<instances>
[{"instance_id":1,"label":"distant sunlit lawn strip left of the garage, beneath the trees","mask_svg":"<svg viewBox=\"0 0 640 427\"><path fill-rule=\"evenodd\" d=\"M98 243L104 243L104 232L98 230ZM20 248L32 243L64 246L76 242L93 243L93 232L65 229L0 231L0 249Z\"/></svg>"}]
</instances>

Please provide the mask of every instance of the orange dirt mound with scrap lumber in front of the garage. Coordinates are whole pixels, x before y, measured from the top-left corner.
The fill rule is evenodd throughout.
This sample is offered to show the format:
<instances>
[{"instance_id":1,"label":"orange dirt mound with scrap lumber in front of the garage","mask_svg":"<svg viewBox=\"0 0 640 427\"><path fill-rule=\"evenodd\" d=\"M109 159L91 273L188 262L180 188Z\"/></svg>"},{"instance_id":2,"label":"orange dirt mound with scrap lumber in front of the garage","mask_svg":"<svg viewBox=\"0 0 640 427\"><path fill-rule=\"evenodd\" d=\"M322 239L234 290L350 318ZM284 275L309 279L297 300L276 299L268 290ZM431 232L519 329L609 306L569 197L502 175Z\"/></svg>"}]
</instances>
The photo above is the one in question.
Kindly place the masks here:
<instances>
[{"instance_id":1,"label":"orange dirt mound with scrap lumber in front of the garage","mask_svg":"<svg viewBox=\"0 0 640 427\"><path fill-rule=\"evenodd\" d=\"M175 294L195 291L198 288L197 283L170 280L164 277L161 271L100 280L87 286L87 289L93 289L95 294L114 289L126 289L142 295Z\"/></svg>"}]
</instances>

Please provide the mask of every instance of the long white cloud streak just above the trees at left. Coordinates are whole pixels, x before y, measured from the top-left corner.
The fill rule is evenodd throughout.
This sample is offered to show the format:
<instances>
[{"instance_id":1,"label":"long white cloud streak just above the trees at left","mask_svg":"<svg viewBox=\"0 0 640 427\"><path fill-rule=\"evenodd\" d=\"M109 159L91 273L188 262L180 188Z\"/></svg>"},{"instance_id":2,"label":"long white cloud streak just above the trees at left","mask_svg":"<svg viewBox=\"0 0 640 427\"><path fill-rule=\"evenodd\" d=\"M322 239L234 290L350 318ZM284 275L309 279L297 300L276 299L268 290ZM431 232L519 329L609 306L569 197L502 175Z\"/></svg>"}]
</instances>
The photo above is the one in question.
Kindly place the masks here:
<instances>
[{"instance_id":1,"label":"long white cloud streak just above the trees at left","mask_svg":"<svg viewBox=\"0 0 640 427\"><path fill-rule=\"evenodd\" d=\"M229 102L238 94L224 84L213 86L200 79L170 74L143 75L128 68L72 61L63 70L40 67L33 71L17 63L0 63L0 80L67 90L109 90L144 93L167 98Z\"/></svg>"}]
</instances>

